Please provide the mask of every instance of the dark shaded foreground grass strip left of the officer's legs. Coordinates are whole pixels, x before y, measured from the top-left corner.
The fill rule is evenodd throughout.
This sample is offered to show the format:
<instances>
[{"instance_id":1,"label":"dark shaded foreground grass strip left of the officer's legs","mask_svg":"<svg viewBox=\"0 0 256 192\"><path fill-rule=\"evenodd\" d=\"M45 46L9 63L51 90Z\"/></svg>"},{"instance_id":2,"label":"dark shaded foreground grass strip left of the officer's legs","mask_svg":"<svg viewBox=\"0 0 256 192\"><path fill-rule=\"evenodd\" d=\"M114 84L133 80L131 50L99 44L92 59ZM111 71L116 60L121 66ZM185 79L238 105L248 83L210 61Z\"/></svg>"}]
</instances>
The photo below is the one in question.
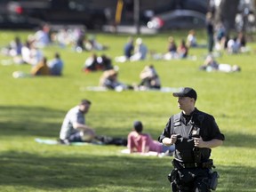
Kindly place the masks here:
<instances>
[{"instance_id":1,"label":"dark shaded foreground grass strip left of the officer's legs","mask_svg":"<svg viewBox=\"0 0 256 192\"><path fill-rule=\"evenodd\" d=\"M117 156L42 157L10 151L1 154L0 186L44 189L106 188L111 186L154 188L159 165L156 158ZM142 165L141 165L142 164ZM150 169L149 169L150 168ZM163 172L158 172L161 175ZM164 175L165 179L165 175ZM143 180L143 185L141 181ZM126 186L126 187L125 187Z\"/></svg>"}]
</instances>

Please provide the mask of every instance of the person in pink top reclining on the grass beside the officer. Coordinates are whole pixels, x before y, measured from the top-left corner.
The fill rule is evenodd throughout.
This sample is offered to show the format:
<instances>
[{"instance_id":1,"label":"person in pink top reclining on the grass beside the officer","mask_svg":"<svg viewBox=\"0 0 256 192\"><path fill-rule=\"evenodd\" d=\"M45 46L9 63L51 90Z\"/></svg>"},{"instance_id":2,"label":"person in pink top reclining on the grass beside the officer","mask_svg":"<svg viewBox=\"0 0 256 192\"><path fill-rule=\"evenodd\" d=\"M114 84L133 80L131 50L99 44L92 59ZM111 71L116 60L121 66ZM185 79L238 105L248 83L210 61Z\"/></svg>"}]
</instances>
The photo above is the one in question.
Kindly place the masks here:
<instances>
[{"instance_id":1,"label":"person in pink top reclining on the grass beside the officer","mask_svg":"<svg viewBox=\"0 0 256 192\"><path fill-rule=\"evenodd\" d=\"M155 151L157 153L173 152L174 146L166 147L157 140L153 140L148 133L142 133L143 125L140 121L135 121L133 124L133 131L128 134L127 148L130 153L148 153L148 151Z\"/></svg>"}]
</instances>

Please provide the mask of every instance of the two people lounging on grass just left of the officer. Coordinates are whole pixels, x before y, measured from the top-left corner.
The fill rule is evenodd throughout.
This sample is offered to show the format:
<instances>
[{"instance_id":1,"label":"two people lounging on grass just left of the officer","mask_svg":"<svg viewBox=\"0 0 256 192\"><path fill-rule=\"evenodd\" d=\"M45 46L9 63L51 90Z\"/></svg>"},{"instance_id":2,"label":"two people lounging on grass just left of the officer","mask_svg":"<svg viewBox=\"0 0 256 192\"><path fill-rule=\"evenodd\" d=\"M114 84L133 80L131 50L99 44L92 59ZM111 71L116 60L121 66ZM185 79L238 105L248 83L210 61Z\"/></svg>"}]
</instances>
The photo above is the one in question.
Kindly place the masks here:
<instances>
[{"instance_id":1,"label":"two people lounging on grass just left of the officer","mask_svg":"<svg viewBox=\"0 0 256 192\"><path fill-rule=\"evenodd\" d=\"M61 144L100 142L101 144L127 146L130 153L145 154L149 151L154 151L157 154L172 155L175 147L166 147L157 140L152 139L149 133L143 132L143 124L140 121L134 121L132 131L128 133L127 138L98 135L85 121L85 115L89 112L91 105L92 102L90 100L81 100L77 106L68 110L60 129Z\"/></svg>"}]
</instances>

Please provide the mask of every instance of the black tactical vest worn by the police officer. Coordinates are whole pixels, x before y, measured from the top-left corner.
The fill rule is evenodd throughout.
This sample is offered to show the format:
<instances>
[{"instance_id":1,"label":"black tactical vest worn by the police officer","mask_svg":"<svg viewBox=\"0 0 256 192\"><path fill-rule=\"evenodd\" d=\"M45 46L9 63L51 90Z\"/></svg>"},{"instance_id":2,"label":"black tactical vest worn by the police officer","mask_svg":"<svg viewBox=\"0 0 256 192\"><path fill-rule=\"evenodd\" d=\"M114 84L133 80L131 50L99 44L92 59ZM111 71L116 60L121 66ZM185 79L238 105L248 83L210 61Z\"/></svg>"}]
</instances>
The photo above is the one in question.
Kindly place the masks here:
<instances>
[{"instance_id":1,"label":"black tactical vest worn by the police officer","mask_svg":"<svg viewBox=\"0 0 256 192\"><path fill-rule=\"evenodd\" d=\"M181 113L172 116L171 133L181 136L175 143L175 159L183 163L192 164L200 164L207 161L210 157L211 149L195 148L193 140L193 137L200 137L200 130L204 128L202 127L204 113L196 112L187 125L182 123L181 116Z\"/></svg>"}]
</instances>

